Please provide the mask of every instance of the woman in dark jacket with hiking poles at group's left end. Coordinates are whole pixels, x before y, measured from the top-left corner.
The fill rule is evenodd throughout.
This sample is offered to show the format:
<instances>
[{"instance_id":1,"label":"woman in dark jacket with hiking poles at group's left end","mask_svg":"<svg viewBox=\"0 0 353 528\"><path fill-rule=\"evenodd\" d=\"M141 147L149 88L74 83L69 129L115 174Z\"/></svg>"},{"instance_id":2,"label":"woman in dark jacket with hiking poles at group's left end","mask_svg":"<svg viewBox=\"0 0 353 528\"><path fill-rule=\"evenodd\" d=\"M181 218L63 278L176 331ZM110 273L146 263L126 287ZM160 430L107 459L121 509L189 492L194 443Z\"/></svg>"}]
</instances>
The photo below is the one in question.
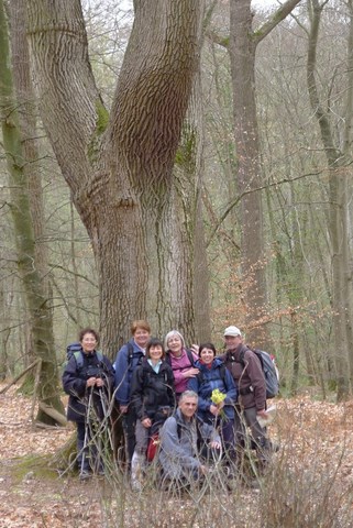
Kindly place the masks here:
<instances>
[{"instance_id":1,"label":"woman in dark jacket with hiking poles at group's left end","mask_svg":"<svg viewBox=\"0 0 353 528\"><path fill-rule=\"evenodd\" d=\"M96 350L99 336L85 328L79 333L81 350L75 352L63 373L63 387L69 395L67 419L77 425L77 462L80 480L92 472L102 474L102 462L95 447L95 429L104 418L114 383L111 362Z\"/></svg>"}]
</instances>

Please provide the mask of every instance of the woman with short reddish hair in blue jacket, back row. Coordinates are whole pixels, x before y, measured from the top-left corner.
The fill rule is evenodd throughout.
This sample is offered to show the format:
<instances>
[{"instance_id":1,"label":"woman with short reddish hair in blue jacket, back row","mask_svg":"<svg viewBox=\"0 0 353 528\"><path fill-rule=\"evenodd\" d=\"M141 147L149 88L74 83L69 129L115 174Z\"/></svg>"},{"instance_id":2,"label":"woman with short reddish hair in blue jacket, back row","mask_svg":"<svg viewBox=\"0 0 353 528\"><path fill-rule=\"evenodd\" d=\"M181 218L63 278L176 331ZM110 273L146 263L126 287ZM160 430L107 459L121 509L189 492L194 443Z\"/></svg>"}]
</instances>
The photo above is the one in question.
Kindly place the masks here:
<instances>
[{"instance_id":1,"label":"woman with short reddish hair in blue jacket, back row","mask_svg":"<svg viewBox=\"0 0 353 528\"><path fill-rule=\"evenodd\" d=\"M119 411L123 416L125 451L128 463L131 463L135 449L136 413L131 403L132 376L145 356L146 344L151 338L151 327L144 320L135 320L131 324L132 339L119 350L115 362L115 399Z\"/></svg>"}]
</instances>

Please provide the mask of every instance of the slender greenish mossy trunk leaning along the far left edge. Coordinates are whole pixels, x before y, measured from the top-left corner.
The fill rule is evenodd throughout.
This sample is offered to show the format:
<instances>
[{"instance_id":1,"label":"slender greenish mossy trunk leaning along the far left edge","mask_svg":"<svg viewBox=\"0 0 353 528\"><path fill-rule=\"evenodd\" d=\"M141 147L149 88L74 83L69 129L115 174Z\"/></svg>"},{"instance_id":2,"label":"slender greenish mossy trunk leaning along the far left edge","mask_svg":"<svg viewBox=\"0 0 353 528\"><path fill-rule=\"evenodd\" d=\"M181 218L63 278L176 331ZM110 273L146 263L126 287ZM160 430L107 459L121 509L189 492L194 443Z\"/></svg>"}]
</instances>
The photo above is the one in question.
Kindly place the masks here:
<instances>
[{"instance_id":1,"label":"slender greenish mossy trunk leaning along the far left edge","mask_svg":"<svg viewBox=\"0 0 353 528\"><path fill-rule=\"evenodd\" d=\"M19 16L24 14L19 8ZM22 6L23 7L23 6ZM24 19L22 18L22 29L24 29ZM24 34L24 32L23 32ZM19 119L18 107L24 102L23 94L18 90L19 99L14 97L14 87L12 73L10 68L10 52L8 41L8 28L4 13L3 1L0 0L0 48L3 58L0 62L0 105L1 105L1 125L3 135L3 145L7 154L7 166L9 170L10 194L11 194L11 212L16 240L19 272L22 278L26 308L30 315L31 337L33 351L41 362L38 399L40 404L47 407L54 407L64 414L64 406L58 394L58 375L56 366L56 355L54 349L54 336L52 323L51 304L45 294L41 277L41 265L35 251L35 235L33 229L33 220L31 215L31 206L29 199L29 177L26 164L32 158L26 160L25 154L33 153L32 148L23 148L23 141L27 139L24 133L24 127L31 128L31 120L24 114ZM14 42L14 50L18 51L18 41ZM25 46L25 43L22 43ZM14 61L14 68L19 63ZM21 84L21 75L16 78ZM25 90L24 85L21 86ZM25 92L25 98L29 92ZM21 127L22 125L22 127ZM31 129L31 132L34 131ZM49 425L56 425L57 421L51 415L43 411L43 407L38 410L36 419Z\"/></svg>"}]
</instances>

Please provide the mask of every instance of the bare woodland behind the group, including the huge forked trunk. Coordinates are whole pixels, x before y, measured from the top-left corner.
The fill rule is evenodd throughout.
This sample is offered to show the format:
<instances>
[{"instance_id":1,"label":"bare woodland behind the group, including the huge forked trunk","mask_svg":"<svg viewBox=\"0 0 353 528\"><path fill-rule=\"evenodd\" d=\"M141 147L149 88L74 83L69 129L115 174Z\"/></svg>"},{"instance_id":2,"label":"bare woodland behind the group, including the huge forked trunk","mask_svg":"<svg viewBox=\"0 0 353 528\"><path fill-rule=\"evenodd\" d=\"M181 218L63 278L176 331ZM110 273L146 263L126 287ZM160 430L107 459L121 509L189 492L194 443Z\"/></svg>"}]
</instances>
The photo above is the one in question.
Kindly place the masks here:
<instances>
[{"instance_id":1,"label":"bare woodland behind the group, including the huge forked trunk","mask_svg":"<svg viewBox=\"0 0 353 528\"><path fill-rule=\"evenodd\" d=\"M349 397L352 1L52 4L0 0L1 377L60 422L67 343L146 318Z\"/></svg>"}]
</instances>

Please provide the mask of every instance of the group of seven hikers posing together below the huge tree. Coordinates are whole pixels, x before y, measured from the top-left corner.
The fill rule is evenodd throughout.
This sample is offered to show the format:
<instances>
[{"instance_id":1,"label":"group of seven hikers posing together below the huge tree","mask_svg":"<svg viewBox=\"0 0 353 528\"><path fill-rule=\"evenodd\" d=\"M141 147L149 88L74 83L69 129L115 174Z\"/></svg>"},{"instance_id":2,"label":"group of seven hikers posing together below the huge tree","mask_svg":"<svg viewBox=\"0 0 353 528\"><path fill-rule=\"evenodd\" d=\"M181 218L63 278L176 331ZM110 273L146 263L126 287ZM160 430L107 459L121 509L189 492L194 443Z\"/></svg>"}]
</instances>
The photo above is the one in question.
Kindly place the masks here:
<instances>
[{"instance_id":1,"label":"group of seven hikers posing together below the huge tree","mask_svg":"<svg viewBox=\"0 0 353 528\"><path fill-rule=\"evenodd\" d=\"M87 457L95 431L88 427L88 405L98 418L104 414L104 394L113 394L123 419L126 461L134 490L142 487L151 437L159 433L158 462L170 481L198 480L207 460L222 458L236 466L247 444L247 427L263 465L271 442L257 418L266 418L266 385L262 365L247 348L238 327L224 330L225 352L217 355L212 343L187 349L177 330L164 342L151 337L150 324L133 321L131 340L118 352L114 364L98 352L92 329L80 332L81 356L69 360L63 385L69 394L69 420L77 422L80 477L103 473L99 450ZM241 361L242 358L242 361ZM97 431L96 431L97 433ZM95 442L95 446L97 443ZM92 463L93 462L93 463Z\"/></svg>"}]
</instances>

